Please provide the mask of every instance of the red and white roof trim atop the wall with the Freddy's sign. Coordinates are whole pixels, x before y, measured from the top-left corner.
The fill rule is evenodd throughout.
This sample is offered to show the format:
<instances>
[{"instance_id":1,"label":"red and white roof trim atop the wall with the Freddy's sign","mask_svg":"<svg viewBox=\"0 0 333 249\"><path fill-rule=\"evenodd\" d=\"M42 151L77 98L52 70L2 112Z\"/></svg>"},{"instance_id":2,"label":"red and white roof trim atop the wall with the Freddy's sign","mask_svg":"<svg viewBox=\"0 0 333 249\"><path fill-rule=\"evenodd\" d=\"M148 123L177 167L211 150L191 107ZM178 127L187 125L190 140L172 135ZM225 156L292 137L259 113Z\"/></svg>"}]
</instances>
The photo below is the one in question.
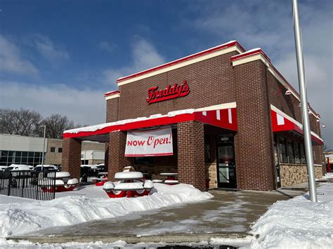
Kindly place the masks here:
<instances>
[{"instance_id":1,"label":"red and white roof trim atop the wall with the Freddy's sign","mask_svg":"<svg viewBox=\"0 0 333 249\"><path fill-rule=\"evenodd\" d=\"M129 76L125 76L125 77L119 78L119 79L117 79L117 83L125 81L126 79L132 79L132 78L135 78L137 76L141 76L143 74L148 74L150 72L154 72L154 71L157 71L157 70L165 68L165 67L170 67L170 66L176 65L178 63L185 62L187 60L191 60L191 59L194 59L194 58L198 58L198 57L200 57L202 55L207 55L209 53L213 53L215 51L222 50L223 48L229 48L229 47L232 47L232 46L238 46L240 48L240 50L242 50L242 51L245 52L245 49L240 45L240 43L238 43L237 41L232 41L232 42L220 45L220 46L216 46L214 48L209 48L206 51L195 53L193 55L188 55L188 56L186 56L184 58L181 58L181 59L178 59L178 60L174 60L173 62L169 62L169 63L166 63L164 65L160 65L158 67L152 67L151 69L147 69L147 70L145 70L143 72L138 72L136 74L131 74Z\"/></svg>"}]
</instances>

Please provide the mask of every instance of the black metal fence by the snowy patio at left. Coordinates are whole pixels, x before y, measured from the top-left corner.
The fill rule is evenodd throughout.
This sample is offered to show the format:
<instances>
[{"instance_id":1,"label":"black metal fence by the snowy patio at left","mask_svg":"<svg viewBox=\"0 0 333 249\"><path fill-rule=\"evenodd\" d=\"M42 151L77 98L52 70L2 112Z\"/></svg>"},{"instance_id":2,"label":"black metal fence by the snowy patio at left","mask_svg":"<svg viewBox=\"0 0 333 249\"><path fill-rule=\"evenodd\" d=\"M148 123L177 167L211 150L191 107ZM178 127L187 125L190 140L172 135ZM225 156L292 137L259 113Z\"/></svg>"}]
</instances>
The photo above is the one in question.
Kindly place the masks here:
<instances>
[{"instance_id":1,"label":"black metal fence by the snowy patio at left","mask_svg":"<svg viewBox=\"0 0 333 249\"><path fill-rule=\"evenodd\" d=\"M0 171L0 194L48 201L55 198L55 170Z\"/></svg>"}]
</instances>

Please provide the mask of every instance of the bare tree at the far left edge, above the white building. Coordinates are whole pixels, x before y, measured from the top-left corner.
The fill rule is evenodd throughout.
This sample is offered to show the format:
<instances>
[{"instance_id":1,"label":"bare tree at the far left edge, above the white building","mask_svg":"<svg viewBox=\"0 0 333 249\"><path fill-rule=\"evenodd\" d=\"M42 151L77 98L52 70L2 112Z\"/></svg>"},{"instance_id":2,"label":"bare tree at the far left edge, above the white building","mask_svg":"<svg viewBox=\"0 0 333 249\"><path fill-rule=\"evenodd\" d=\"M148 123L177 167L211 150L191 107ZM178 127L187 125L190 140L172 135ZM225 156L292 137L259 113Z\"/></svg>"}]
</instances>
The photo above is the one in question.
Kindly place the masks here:
<instances>
[{"instance_id":1,"label":"bare tree at the far left edge, above the white building","mask_svg":"<svg viewBox=\"0 0 333 249\"><path fill-rule=\"evenodd\" d=\"M30 136L41 122L41 114L27 109L0 109L0 132Z\"/></svg>"}]
</instances>

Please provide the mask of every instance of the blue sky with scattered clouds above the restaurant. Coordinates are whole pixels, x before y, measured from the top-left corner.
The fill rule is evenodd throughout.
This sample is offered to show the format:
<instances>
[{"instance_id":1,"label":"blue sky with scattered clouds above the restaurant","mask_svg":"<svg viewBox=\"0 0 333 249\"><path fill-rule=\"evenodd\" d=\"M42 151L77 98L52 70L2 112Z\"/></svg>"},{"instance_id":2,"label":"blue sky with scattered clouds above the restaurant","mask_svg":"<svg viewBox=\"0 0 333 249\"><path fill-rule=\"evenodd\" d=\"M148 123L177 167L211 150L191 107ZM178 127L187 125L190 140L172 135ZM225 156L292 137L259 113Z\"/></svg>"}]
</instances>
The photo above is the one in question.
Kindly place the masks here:
<instances>
[{"instance_id":1,"label":"blue sky with scattered clouds above the restaurant","mask_svg":"<svg viewBox=\"0 0 333 249\"><path fill-rule=\"evenodd\" d=\"M308 100L333 149L333 1L299 0ZM0 0L0 108L105 122L116 79L237 40L299 89L292 1Z\"/></svg>"}]
</instances>

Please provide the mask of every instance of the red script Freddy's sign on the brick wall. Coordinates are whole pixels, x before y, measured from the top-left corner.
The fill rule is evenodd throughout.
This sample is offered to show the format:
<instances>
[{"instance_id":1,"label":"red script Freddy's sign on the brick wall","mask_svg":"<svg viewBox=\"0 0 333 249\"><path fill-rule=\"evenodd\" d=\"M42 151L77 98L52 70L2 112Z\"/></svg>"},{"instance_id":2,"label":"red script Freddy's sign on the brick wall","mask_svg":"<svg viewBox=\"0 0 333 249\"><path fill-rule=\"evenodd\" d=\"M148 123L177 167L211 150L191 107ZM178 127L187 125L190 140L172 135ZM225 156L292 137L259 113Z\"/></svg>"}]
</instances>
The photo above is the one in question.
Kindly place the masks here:
<instances>
[{"instance_id":1,"label":"red script Freddy's sign on the brick wall","mask_svg":"<svg viewBox=\"0 0 333 249\"><path fill-rule=\"evenodd\" d=\"M149 88L146 101L148 105L150 105L155 102L171 100L176 97L185 97L188 93L190 93L190 87L188 86L188 81L184 80L180 85L175 83L174 86L169 85L162 90L158 90L158 86Z\"/></svg>"}]
</instances>

